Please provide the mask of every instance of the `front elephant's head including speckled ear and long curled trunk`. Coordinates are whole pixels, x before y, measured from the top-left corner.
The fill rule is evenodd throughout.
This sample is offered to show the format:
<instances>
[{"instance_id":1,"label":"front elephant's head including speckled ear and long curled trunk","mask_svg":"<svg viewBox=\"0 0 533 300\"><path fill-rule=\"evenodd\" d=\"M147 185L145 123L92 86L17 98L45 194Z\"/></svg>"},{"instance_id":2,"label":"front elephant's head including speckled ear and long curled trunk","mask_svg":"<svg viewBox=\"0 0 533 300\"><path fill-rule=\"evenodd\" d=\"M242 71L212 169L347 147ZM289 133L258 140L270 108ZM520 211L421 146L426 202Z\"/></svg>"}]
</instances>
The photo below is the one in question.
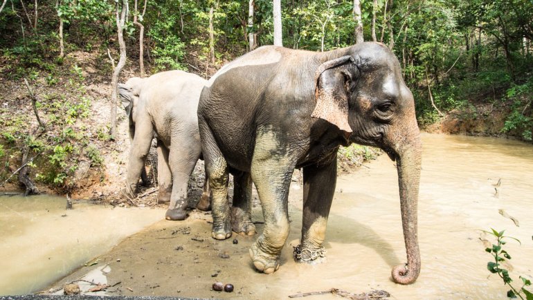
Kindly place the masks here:
<instances>
[{"instance_id":1,"label":"front elephant's head including speckled ear and long curled trunk","mask_svg":"<svg viewBox=\"0 0 533 300\"><path fill-rule=\"evenodd\" d=\"M420 272L417 202L422 144L413 94L399 62L386 46L358 44L316 72L312 116L338 126L348 142L380 147L397 162L407 265L392 270L397 283L413 283Z\"/></svg>"}]
</instances>

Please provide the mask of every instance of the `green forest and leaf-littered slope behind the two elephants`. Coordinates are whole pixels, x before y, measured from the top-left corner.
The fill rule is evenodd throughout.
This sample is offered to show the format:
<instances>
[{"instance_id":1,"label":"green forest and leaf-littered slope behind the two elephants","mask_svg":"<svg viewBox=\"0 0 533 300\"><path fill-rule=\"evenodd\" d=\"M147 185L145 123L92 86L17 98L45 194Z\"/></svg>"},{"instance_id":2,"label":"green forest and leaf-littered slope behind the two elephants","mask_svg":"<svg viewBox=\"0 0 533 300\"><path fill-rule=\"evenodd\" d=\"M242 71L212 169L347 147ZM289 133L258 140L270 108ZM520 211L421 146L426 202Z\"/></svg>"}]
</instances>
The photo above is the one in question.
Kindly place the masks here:
<instances>
[{"instance_id":1,"label":"green forest and leaf-littered slope behind the two elephants","mask_svg":"<svg viewBox=\"0 0 533 300\"><path fill-rule=\"evenodd\" d=\"M423 129L533 139L531 0L0 2L4 189L20 181L27 193L82 193L118 182L112 170L124 169L128 142L117 82L172 69L209 78L269 44L380 41L399 59Z\"/></svg>"}]
</instances>

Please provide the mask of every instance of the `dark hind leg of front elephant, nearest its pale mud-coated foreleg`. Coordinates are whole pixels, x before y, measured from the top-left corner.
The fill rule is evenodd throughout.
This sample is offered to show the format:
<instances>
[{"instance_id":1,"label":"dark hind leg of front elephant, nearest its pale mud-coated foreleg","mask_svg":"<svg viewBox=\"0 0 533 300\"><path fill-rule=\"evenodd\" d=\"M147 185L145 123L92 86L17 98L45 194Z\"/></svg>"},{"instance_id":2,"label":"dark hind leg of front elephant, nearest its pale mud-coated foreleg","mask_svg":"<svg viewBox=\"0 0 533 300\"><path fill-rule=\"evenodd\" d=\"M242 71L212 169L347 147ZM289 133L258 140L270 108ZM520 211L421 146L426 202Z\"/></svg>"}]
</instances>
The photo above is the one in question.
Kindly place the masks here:
<instances>
[{"instance_id":1,"label":"dark hind leg of front elephant, nearest its pale mud-coated foreleg","mask_svg":"<svg viewBox=\"0 0 533 300\"><path fill-rule=\"evenodd\" d=\"M255 225L252 223L252 178L249 173L233 174L233 205L231 207L231 228L237 234L252 236Z\"/></svg>"}]
</instances>

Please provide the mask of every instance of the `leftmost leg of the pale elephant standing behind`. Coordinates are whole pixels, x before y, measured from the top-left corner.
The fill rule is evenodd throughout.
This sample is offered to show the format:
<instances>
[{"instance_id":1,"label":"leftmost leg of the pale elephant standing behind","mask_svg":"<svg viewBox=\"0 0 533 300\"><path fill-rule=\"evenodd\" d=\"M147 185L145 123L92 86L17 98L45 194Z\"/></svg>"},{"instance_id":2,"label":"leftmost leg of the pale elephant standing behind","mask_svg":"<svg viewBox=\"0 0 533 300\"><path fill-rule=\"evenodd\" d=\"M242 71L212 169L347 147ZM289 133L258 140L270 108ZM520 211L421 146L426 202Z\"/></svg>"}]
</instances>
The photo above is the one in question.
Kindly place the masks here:
<instances>
[{"instance_id":1,"label":"leftmost leg of the pale elephant standing behind","mask_svg":"<svg viewBox=\"0 0 533 300\"><path fill-rule=\"evenodd\" d=\"M122 194L128 198L136 197L137 184L141 172L145 167L145 158L150 151L154 131L151 124L136 124L135 136L129 149L129 158L127 163L126 187Z\"/></svg>"}]
</instances>

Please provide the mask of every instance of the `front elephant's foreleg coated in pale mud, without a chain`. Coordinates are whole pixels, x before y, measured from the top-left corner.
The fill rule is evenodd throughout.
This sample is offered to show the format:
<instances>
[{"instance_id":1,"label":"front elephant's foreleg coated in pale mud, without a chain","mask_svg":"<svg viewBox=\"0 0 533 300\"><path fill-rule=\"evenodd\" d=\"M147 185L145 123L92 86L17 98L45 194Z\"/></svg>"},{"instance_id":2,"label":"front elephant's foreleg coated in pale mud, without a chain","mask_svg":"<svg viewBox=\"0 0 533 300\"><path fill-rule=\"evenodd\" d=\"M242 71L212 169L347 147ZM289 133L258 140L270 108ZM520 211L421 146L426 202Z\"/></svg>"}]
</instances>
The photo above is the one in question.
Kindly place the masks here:
<instances>
[{"instance_id":1,"label":"front elephant's foreleg coated in pale mud, without a chain","mask_svg":"<svg viewBox=\"0 0 533 300\"><path fill-rule=\"evenodd\" d=\"M294 165L272 131L259 131L251 176L263 209L264 230L253 243L250 256L255 268L266 274L278 270L281 250L289 236L287 198Z\"/></svg>"}]
</instances>

